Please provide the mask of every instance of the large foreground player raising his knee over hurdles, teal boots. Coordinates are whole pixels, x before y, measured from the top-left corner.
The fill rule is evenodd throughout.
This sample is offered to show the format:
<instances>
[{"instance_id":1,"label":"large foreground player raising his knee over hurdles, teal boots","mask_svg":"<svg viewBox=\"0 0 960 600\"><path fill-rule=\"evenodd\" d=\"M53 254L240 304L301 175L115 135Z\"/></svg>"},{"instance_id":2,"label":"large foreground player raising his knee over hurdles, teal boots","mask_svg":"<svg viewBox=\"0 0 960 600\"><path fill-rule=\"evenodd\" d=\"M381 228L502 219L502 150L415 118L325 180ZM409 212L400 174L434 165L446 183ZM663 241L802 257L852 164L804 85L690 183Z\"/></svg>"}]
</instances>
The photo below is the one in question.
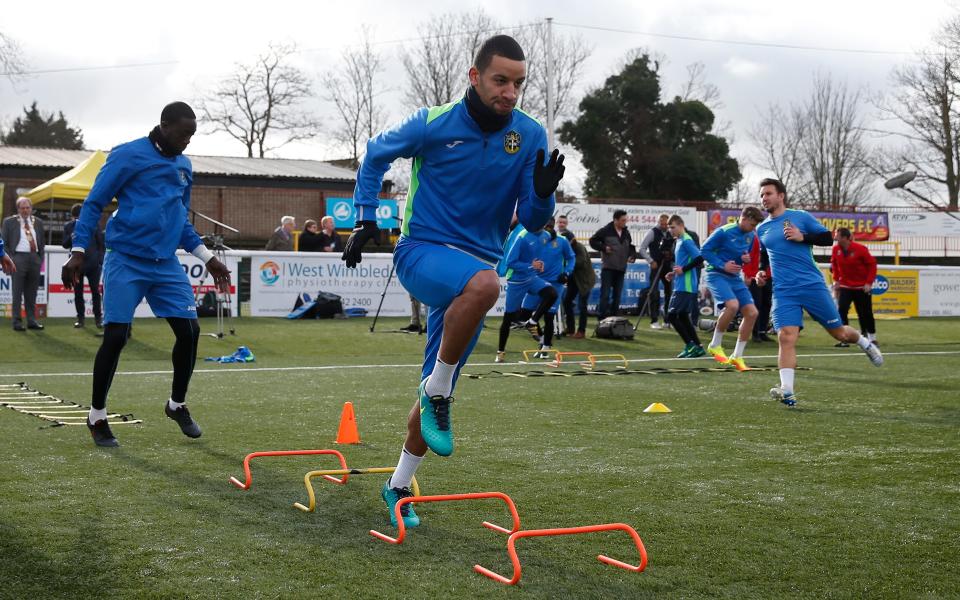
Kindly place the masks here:
<instances>
[{"instance_id":1,"label":"large foreground player raising his knee over hurdles, teal boots","mask_svg":"<svg viewBox=\"0 0 960 600\"><path fill-rule=\"evenodd\" d=\"M417 401L407 421L400 462L382 496L395 521L397 501L427 449L453 452L450 404L460 368L473 350L483 317L500 295L495 267L514 212L528 231L553 214L563 156L544 162L547 135L515 108L527 69L523 49L505 35L486 40L470 67L459 101L423 108L367 143L357 173L357 226L343 259L354 267L377 234L374 220L383 175L398 158L412 158L410 191L393 254L400 283L430 307ZM402 513L419 524L411 505Z\"/></svg>"}]
</instances>

